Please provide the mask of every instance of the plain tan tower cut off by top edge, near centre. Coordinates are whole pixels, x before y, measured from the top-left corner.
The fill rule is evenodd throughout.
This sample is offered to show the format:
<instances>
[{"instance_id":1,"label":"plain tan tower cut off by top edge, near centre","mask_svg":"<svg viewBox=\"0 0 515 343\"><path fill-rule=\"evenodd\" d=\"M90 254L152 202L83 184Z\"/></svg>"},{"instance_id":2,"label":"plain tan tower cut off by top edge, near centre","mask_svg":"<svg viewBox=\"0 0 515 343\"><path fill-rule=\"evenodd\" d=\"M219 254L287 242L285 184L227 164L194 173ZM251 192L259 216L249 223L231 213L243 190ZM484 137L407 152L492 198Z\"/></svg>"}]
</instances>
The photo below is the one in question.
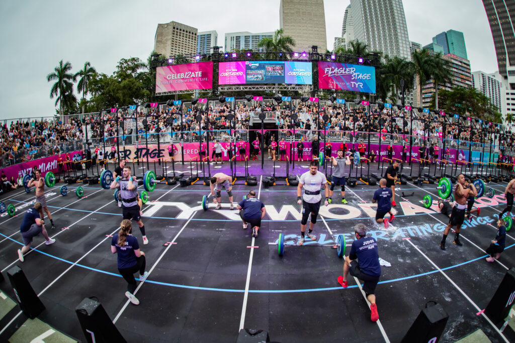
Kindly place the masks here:
<instances>
[{"instance_id":1,"label":"plain tan tower cut off by top edge, near centre","mask_svg":"<svg viewBox=\"0 0 515 343\"><path fill-rule=\"evenodd\" d=\"M281 0L279 6L279 27L295 40L294 51L308 52L316 45L318 52L325 52L323 0Z\"/></svg>"}]
</instances>

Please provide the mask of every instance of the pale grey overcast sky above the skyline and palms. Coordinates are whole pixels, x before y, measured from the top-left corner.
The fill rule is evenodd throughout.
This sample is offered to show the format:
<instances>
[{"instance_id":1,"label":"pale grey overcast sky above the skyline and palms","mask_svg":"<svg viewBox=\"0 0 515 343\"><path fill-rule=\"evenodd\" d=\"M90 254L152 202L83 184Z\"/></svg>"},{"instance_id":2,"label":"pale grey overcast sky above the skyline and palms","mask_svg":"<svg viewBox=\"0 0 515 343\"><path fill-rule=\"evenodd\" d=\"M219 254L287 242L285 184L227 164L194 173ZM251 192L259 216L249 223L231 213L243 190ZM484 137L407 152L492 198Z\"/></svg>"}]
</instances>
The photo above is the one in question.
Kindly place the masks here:
<instances>
[{"instance_id":1,"label":"pale grey overcast sky above the skyline and palms","mask_svg":"<svg viewBox=\"0 0 515 343\"><path fill-rule=\"evenodd\" d=\"M121 58L146 60L157 24L171 21L199 31L216 30L218 45L223 46L226 32L278 29L279 2L2 1L0 119L54 115L55 99L49 98L51 84L46 75L61 59L72 63L73 73L89 61L99 73L112 74ZM341 35L349 3L324 1L329 48ZM403 4L410 41L425 45L442 31L461 31L472 71L497 70L492 34L480 0L404 0Z\"/></svg>"}]
</instances>

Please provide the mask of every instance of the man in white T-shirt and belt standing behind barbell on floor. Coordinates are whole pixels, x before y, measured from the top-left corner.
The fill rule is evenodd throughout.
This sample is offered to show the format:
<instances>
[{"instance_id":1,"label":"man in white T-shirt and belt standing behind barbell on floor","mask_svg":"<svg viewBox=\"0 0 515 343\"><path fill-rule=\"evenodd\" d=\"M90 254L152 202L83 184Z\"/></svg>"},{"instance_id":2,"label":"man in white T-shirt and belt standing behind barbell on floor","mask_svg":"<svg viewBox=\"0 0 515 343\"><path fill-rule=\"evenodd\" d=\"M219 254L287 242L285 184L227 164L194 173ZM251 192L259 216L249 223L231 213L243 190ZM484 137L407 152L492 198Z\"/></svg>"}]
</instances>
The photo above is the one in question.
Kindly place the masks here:
<instances>
[{"instance_id":1,"label":"man in white T-shirt and belt standing behind barbell on floor","mask_svg":"<svg viewBox=\"0 0 515 343\"><path fill-rule=\"evenodd\" d=\"M304 195L302 195L302 187L304 187ZM317 222L317 215L320 209L320 202L322 195L320 195L320 188L323 187L325 191L324 205L329 205L329 187L327 186L327 178L325 175L318 171L318 161L314 160L310 163L310 171L305 172L300 176L299 186L297 186L297 204L302 204L302 221L300 223L299 245L304 244L304 234L306 232L307 218L311 213L310 230L307 231L307 237L311 240L316 240L316 236L312 233L315 223Z\"/></svg>"}]
</instances>

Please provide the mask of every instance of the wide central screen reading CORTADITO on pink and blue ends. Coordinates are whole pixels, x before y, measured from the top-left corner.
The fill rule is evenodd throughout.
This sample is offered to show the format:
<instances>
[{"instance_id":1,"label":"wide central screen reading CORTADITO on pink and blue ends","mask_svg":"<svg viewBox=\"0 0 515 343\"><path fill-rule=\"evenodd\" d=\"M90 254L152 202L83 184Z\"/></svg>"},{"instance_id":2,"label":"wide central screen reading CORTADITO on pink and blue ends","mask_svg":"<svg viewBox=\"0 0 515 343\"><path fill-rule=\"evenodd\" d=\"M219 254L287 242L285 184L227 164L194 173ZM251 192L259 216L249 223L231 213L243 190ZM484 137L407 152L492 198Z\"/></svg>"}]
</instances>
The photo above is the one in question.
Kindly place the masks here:
<instances>
[{"instance_id":1,"label":"wide central screen reading CORTADITO on pink and blue ends","mask_svg":"<svg viewBox=\"0 0 515 343\"><path fill-rule=\"evenodd\" d=\"M311 62L234 61L218 64L218 84L312 84Z\"/></svg>"}]
</instances>

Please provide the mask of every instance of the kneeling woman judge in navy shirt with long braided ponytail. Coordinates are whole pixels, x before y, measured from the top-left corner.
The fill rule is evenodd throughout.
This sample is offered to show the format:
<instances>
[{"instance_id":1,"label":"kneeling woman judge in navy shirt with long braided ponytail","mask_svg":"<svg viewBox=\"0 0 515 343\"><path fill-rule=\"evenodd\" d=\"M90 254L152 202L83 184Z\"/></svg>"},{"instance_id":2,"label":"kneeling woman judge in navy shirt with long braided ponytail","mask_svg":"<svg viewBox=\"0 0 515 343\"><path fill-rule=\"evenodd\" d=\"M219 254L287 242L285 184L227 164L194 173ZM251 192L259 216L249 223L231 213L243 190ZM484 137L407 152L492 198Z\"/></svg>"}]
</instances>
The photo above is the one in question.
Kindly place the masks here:
<instances>
[{"instance_id":1,"label":"kneeling woman judge in navy shirt with long braided ponytail","mask_svg":"<svg viewBox=\"0 0 515 343\"><path fill-rule=\"evenodd\" d=\"M134 273L140 272L140 281L145 281L148 272L145 272L145 253L140 251L140 244L131 234L132 224L128 219L124 219L120 224L120 230L111 239L111 252L118 254L118 272L127 281L127 292L125 296L134 305L140 304L138 298L134 296L136 290L136 280Z\"/></svg>"}]
</instances>

